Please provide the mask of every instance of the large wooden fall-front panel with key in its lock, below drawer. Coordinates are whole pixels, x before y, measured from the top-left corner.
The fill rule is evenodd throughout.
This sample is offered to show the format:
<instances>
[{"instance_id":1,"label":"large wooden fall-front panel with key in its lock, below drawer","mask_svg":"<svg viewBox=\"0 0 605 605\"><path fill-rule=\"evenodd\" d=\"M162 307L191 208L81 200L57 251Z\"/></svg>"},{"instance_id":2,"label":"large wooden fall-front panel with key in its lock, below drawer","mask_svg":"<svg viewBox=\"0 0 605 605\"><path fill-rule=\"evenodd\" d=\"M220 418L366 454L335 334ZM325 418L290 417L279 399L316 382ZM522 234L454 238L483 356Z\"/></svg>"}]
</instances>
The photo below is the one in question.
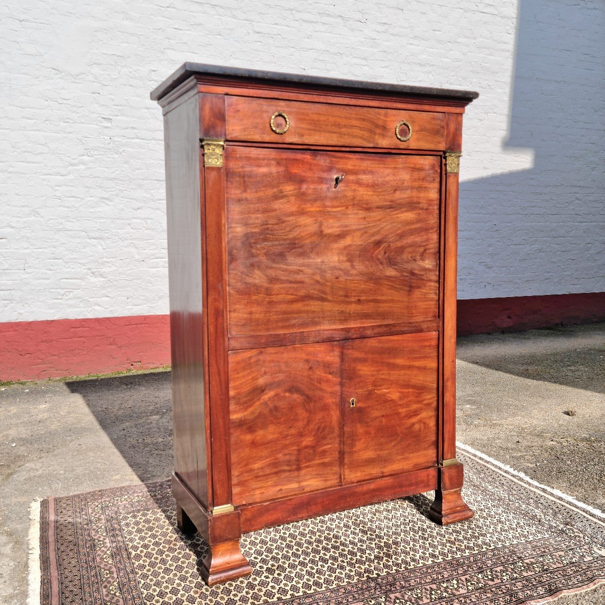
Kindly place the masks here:
<instances>
[{"instance_id":1,"label":"large wooden fall-front panel with key in its lock, below drawer","mask_svg":"<svg viewBox=\"0 0 605 605\"><path fill-rule=\"evenodd\" d=\"M227 146L225 165L229 336L437 318L437 157Z\"/></svg>"}]
</instances>

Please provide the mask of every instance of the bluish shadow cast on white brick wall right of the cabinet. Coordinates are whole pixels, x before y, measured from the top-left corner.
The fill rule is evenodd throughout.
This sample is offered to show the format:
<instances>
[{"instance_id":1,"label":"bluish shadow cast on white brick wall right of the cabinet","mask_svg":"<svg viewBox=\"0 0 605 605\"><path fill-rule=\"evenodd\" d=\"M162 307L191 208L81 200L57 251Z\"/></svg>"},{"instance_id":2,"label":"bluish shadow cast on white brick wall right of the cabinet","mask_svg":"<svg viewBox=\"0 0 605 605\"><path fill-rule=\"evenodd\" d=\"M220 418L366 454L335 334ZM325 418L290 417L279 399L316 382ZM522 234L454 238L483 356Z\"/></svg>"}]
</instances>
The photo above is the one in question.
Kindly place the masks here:
<instances>
[{"instance_id":1,"label":"bluish shadow cast on white brick wall right of the cabinet","mask_svg":"<svg viewBox=\"0 0 605 605\"><path fill-rule=\"evenodd\" d=\"M600 2L520 0L502 151L535 163L460 183L464 298L605 290L604 30Z\"/></svg>"}]
</instances>

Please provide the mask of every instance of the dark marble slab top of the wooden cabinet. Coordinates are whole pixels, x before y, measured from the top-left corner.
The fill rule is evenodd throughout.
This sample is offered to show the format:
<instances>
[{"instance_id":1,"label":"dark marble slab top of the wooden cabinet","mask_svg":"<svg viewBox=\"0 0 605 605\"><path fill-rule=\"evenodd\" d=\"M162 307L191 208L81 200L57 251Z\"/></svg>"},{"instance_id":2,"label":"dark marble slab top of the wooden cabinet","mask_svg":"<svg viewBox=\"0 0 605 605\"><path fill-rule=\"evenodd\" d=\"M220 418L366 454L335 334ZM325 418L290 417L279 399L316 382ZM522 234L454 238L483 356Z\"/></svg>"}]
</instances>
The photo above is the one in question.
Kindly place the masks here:
<instances>
[{"instance_id":1,"label":"dark marble slab top of the wooden cabinet","mask_svg":"<svg viewBox=\"0 0 605 605\"><path fill-rule=\"evenodd\" d=\"M358 91L404 94L407 96L430 96L442 99L458 99L471 102L479 96L472 90L451 90L449 88L431 88L410 86L407 84L385 84L382 82L363 82L342 78L307 76L306 74L287 74L280 71L246 70L240 67L224 65L206 65L203 63L183 63L171 76L166 78L151 93L151 100L157 101L176 88L181 82L198 74L200 76L229 76L242 80L263 80L263 82L283 82L290 84L309 84L318 87L349 88Z\"/></svg>"}]
</instances>

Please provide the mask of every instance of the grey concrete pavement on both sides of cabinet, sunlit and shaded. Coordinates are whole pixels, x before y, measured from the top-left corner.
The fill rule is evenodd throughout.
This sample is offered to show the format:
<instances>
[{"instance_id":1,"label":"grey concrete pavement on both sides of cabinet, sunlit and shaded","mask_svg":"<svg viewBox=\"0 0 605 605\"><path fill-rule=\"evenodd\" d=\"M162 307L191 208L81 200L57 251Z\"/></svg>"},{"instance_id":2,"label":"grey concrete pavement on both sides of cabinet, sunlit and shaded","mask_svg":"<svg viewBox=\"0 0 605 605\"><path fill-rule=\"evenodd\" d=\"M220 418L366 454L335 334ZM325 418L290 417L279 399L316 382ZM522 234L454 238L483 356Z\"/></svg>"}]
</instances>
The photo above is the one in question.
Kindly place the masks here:
<instances>
[{"instance_id":1,"label":"grey concrete pavement on both sides of cabinet, sunlit and shaded","mask_svg":"<svg viewBox=\"0 0 605 605\"><path fill-rule=\"evenodd\" d=\"M170 374L0 389L0 603L20 605L31 500L171 473ZM459 440L605 509L605 324L459 339L458 410Z\"/></svg>"}]
</instances>

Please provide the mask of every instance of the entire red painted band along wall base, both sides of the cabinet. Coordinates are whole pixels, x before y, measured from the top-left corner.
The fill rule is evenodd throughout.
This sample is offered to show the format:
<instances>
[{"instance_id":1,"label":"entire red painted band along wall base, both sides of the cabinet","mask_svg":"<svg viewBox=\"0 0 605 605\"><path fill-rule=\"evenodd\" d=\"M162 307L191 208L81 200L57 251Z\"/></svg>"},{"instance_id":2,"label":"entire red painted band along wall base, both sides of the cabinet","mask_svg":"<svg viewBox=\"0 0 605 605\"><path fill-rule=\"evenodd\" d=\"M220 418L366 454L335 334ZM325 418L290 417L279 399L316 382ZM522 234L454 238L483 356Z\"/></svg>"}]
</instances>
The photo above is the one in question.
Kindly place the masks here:
<instances>
[{"instance_id":1,"label":"entire red painted band along wall base, both sides of the cabinet","mask_svg":"<svg viewBox=\"0 0 605 605\"><path fill-rule=\"evenodd\" d=\"M458 301L460 336L605 321L605 292ZM64 378L170 363L168 315L0 323L0 381Z\"/></svg>"}]
</instances>

